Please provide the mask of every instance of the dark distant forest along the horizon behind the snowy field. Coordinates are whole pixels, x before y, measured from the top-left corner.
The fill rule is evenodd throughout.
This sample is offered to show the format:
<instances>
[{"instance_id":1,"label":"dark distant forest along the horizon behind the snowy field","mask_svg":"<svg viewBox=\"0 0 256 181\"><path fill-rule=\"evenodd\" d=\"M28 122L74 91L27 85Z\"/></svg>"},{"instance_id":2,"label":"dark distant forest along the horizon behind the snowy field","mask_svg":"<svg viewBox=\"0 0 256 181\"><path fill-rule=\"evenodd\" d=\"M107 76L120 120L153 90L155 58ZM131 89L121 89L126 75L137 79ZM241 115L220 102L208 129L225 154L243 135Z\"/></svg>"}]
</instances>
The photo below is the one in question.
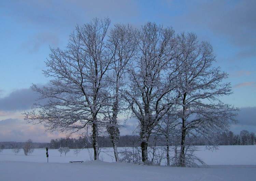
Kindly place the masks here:
<instances>
[{"instance_id":1,"label":"dark distant forest along the horizon behind the snowy field","mask_svg":"<svg viewBox=\"0 0 256 181\"><path fill-rule=\"evenodd\" d=\"M164 146L165 142L161 136L151 137L151 145ZM254 132L242 130L240 134L234 134L232 131L224 132L218 135L218 145L256 145L256 136ZM202 138L197 138L193 145L203 145ZM140 137L138 135L125 135L120 136L118 147L132 147L140 145ZM23 148L23 142L0 142L1 149ZM108 136L99 136L100 147L112 147L110 138ZM74 148L92 148L90 138L59 138L52 139L50 143L33 143L33 148L46 148L58 149L59 147Z\"/></svg>"}]
</instances>

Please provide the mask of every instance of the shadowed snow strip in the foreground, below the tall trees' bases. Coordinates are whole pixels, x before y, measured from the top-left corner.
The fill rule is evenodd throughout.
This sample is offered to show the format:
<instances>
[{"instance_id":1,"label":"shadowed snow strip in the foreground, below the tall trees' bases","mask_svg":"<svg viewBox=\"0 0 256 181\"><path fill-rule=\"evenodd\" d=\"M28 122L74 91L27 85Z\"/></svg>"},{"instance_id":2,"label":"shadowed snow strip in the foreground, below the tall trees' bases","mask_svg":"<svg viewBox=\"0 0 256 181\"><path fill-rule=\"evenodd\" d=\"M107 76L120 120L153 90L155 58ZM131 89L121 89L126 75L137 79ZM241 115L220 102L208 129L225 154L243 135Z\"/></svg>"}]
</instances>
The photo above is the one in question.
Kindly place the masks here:
<instances>
[{"instance_id":1,"label":"shadowed snow strip in the foreground, below the tall trees' bases","mask_svg":"<svg viewBox=\"0 0 256 181\"><path fill-rule=\"evenodd\" d=\"M0 162L0 180L19 181L255 181L256 166L180 168L127 163Z\"/></svg>"}]
</instances>

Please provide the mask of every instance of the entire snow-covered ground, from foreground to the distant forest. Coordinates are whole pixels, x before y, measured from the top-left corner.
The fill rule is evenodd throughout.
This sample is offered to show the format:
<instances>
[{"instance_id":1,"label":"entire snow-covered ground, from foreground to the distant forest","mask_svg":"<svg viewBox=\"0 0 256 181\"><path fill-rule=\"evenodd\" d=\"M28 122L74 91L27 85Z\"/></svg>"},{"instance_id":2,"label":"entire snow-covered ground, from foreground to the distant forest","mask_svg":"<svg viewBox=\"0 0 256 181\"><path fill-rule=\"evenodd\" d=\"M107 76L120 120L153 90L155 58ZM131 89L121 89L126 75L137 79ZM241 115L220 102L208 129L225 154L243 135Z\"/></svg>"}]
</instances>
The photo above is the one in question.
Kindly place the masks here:
<instances>
[{"instance_id":1,"label":"entire snow-covered ground, from foreground to the distant forest","mask_svg":"<svg viewBox=\"0 0 256 181\"><path fill-rule=\"evenodd\" d=\"M167 166L143 166L112 162L113 152L101 152L102 161L90 161L87 149L78 157L71 149L66 157L58 150L35 149L25 156L22 150L14 155L12 150L0 153L0 180L173 180L173 181L253 181L256 180L256 146L220 146L217 151L205 150L200 146L196 154L210 168L180 168ZM92 149L90 149L92 152ZM109 152L108 152L109 151ZM69 161L85 161L69 163Z\"/></svg>"}]
</instances>

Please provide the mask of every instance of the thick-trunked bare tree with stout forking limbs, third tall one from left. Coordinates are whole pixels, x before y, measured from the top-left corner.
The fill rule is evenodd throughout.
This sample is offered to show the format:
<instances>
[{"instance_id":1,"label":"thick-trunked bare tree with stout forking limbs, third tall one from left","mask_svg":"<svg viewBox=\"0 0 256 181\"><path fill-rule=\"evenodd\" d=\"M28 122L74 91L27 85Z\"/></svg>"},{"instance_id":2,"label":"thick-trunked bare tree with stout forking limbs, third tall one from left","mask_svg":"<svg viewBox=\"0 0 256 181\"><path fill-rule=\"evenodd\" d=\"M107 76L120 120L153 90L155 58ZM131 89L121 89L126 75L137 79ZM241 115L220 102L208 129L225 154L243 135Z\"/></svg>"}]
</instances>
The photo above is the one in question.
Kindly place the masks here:
<instances>
[{"instance_id":1,"label":"thick-trunked bare tree with stout forking limbs, third tall one from left","mask_svg":"<svg viewBox=\"0 0 256 181\"><path fill-rule=\"evenodd\" d=\"M125 98L140 123L142 161L146 164L152 129L175 102L165 102L163 97L176 87L177 65L172 63L176 42L172 28L151 22L141 27L136 41L137 61L129 70L131 83Z\"/></svg>"}]
</instances>

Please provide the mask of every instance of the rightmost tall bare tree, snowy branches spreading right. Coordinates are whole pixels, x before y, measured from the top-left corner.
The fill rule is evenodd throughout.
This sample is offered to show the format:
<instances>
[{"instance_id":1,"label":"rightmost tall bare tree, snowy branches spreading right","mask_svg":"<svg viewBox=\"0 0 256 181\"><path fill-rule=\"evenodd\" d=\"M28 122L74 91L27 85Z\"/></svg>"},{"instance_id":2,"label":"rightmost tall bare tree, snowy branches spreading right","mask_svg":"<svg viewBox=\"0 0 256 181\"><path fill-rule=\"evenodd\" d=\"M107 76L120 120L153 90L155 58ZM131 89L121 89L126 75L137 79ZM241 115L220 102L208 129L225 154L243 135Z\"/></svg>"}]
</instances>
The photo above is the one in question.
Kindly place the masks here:
<instances>
[{"instance_id":1,"label":"rightmost tall bare tree, snowy branches spreading right","mask_svg":"<svg viewBox=\"0 0 256 181\"><path fill-rule=\"evenodd\" d=\"M199 43L193 33L177 36L179 66L178 100L181 123L180 166L186 166L185 146L187 136L201 135L205 144L216 146L214 135L228 128L234 120L236 108L221 102L220 98L231 94L230 83L222 83L228 75L213 67L215 56L212 46Z\"/></svg>"}]
</instances>

